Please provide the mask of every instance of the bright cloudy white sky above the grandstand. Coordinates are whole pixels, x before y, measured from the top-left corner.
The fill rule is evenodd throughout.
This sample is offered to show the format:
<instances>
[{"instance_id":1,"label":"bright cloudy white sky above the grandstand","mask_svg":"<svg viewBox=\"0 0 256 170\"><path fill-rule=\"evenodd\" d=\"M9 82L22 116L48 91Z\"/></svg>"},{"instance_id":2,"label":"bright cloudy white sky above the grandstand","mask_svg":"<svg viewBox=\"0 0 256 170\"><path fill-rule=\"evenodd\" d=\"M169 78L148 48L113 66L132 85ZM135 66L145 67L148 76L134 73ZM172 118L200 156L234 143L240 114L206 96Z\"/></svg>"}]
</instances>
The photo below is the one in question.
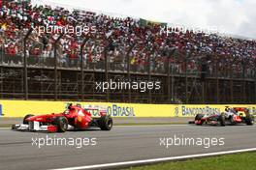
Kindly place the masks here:
<instances>
[{"instance_id":1,"label":"bright cloudy white sky above the grandstand","mask_svg":"<svg viewBox=\"0 0 256 170\"><path fill-rule=\"evenodd\" d=\"M32 0L256 39L256 0Z\"/></svg>"}]
</instances>

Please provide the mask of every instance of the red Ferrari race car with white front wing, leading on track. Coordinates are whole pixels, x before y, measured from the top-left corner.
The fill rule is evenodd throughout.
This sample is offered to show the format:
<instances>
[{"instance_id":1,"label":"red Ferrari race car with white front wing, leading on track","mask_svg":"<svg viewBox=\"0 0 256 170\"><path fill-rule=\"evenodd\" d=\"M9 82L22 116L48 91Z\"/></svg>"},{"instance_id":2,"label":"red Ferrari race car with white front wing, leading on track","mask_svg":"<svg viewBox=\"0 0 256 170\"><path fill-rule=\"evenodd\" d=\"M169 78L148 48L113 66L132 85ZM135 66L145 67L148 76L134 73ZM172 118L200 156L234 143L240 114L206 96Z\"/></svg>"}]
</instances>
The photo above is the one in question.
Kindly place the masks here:
<instances>
[{"instance_id":1,"label":"red Ferrari race car with white front wing, leading on track","mask_svg":"<svg viewBox=\"0 0 256 170\"><path fill-rule=\"evenodd\" d=\"M89 110L90 109L90 110ZM81 108L80 104L69 104L63 113L51 113L34 116L28 114L23 119L23 124L13 125L14 130L65 132L71 129L87 129L91 127L102 130L112 129L112 117L106 110L94 108ZM90 111L97 111L99 117L93 118Z\"/></svg>"}]
</instances>

